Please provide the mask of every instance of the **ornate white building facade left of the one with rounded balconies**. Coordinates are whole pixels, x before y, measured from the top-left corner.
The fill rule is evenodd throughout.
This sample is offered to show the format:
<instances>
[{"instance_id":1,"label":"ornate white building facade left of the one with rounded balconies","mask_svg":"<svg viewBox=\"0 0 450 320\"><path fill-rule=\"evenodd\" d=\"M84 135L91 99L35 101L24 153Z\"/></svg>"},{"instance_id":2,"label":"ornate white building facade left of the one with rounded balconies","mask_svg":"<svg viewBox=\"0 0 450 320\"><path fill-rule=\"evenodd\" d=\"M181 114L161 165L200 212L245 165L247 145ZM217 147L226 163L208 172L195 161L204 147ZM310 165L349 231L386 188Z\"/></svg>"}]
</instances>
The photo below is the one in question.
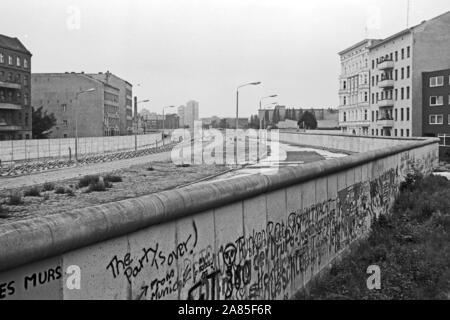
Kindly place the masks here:
<instances>
[{"instance_id":1,"label":"ornate white building facade left of the one with rounded balconies","mask_svg":"<svg viewBox=\"0 0 450 320\"><path fill-rule=\"evenodd\" d=\"M339 52L339 125L343 132L359 135L369 133L369 47L376 42L366 39Z\"/></svg>"}]
</instances>

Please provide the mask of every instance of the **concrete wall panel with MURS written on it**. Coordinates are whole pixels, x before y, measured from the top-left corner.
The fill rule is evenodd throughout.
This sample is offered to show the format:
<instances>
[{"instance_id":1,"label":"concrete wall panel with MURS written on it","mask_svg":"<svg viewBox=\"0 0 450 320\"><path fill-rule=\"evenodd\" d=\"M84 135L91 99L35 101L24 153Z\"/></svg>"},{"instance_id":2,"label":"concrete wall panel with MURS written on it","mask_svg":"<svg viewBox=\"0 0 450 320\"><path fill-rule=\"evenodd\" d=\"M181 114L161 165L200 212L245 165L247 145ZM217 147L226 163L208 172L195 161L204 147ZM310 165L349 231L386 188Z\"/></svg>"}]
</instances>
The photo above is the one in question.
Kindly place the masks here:
<instances>
[{"instance_id":1,"label":"concrete wall panel with MURS written on it","mask_svg":"<svg viewBox=\"0 0 450 320\"><path fill-rule=\"evenodd\" d=\"M61 259L32 263L0 274L0 300L62 300Z\"/></svg>"}]
</instances>

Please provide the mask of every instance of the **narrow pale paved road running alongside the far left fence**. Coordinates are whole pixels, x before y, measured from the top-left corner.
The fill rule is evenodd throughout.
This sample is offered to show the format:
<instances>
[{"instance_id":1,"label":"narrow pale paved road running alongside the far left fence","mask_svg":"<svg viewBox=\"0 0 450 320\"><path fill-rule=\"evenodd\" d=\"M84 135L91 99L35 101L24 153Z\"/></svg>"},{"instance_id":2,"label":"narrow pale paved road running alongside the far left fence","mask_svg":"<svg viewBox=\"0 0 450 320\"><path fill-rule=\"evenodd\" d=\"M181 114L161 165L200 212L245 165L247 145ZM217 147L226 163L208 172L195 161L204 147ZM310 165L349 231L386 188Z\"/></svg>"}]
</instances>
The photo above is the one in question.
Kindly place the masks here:
<instances>
[{"instance_id":1,"label":"narrow pale paved road running alongside the far left fence","mask_svg":"<svg viewBox=\"0 0 450 320\"><path fill-rule=\"evenodd\" d=\"M72 167L45 171L42 173L30 174L20 177L2 178L0 177L0 190L29 187L45 182L56 182L67 179L74 179L89 174L102 174L114 170L129 168L134 165L145 164L154 161L169 161L170 151L151 154L144 157L137 157L114 162L94 163L81 167Z\"/></svg>"}]
</instances>

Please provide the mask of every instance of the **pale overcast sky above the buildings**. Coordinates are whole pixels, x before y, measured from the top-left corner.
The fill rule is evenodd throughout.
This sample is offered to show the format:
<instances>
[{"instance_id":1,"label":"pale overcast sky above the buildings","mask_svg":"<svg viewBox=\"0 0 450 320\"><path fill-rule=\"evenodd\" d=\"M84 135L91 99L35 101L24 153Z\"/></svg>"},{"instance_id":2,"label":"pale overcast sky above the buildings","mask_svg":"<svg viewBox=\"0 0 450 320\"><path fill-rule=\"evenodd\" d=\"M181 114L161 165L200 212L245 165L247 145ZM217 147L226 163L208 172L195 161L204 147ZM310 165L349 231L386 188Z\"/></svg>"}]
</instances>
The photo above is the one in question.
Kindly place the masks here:
<instances>
[{"instance_id":1,"label":"pale overcast sky above the buildings","mask_svg":"<svg viewBox=\"0 0 450 320\"><path fill-rule=\"evenodd\" d=\"M200 116L338 104L337 52L406 27L407 0L1 0L0 33L33 53L33 72L111 71L143 105L200 103ZM411 0L410 25L450 10ZM140 84L138 86L138 84Z\"/></svg>"}]
</instances>

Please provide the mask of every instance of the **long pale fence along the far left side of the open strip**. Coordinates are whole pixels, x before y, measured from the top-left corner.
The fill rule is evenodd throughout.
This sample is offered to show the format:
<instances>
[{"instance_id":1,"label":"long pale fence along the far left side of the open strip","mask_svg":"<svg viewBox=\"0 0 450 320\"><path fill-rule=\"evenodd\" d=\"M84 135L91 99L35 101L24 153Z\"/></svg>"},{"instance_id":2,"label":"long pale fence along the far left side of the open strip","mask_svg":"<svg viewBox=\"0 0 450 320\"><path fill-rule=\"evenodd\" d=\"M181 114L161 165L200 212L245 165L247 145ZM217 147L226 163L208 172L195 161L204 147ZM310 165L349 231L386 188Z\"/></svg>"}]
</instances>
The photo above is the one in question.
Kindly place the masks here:
<instances>
[{"instance_id":1,"label":"long pale fence along the far left side of the open strip","mask_svg":"<svg viewBox=\"0 0 450 320\"><path fill-rule=\"evenodd\" d=\"M161 142L161 133L137 136L138 149ZM78 157L135 149L135 136L89 137L78 139ZM0 165L14 162L72 159L75 138L0 141Z\"/></svg>"}]
</instances>

